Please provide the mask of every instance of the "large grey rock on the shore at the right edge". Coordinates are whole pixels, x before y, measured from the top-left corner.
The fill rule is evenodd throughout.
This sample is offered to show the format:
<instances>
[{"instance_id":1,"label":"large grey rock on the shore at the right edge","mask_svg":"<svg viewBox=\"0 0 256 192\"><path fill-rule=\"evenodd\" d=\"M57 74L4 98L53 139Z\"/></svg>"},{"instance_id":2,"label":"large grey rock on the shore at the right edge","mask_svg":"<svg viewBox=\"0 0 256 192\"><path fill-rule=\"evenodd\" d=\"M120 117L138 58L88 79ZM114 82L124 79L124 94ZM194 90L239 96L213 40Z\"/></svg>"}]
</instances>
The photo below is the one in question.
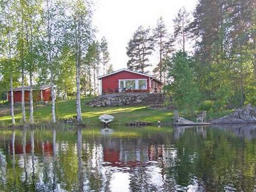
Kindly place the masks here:
<instances>
[{"instance_id":1,"label":"large grey rock on the shore at the right edge","mask_svg":"<svg viewBox=\"0 0 256 192\"><path fill-rule=\"evenodd\" d=\"M247 105L229 115L211 121L212 124L227 123L256 123L256 108Z\"/></svg>"}]
</instances>

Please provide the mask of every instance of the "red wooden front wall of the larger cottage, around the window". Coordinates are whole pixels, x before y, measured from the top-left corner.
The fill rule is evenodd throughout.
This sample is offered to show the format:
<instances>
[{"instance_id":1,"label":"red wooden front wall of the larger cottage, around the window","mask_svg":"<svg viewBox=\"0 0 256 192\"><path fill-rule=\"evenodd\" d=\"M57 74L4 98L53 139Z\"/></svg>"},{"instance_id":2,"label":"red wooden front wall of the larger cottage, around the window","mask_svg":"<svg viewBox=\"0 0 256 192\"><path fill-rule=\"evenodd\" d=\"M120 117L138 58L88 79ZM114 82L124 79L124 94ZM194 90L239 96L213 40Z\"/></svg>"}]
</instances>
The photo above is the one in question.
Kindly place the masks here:
<instances>
[{"instance_id":1,"label":"red wooden front wall of the larger cottage, around the window","mask_svg":"<svg viewBox=\"0 0 256 192\"><path fill-rule=\"evenodd\" d=\"M119 73L115 73L113 75L103 77L101 79L102 92L103 93L115 92L115 89L118 89L119 79L147 79L147 89L143 91L150 90L149 77L136 74L136 73L127 72L127 71L121 71Z\"/></svg>"}]
</instances>

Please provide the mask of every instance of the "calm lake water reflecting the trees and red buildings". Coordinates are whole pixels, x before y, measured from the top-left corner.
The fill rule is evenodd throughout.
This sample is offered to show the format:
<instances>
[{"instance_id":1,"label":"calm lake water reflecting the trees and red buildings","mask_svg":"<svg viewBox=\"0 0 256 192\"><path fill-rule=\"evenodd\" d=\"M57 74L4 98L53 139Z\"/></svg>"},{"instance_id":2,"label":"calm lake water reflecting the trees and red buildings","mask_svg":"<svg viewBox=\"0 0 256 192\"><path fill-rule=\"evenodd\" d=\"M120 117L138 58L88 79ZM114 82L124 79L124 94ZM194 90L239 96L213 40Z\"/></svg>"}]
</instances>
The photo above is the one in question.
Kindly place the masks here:
<instances>
[{"instance_id":1,"label":"calm lake water reflecting the trees and red buildings","mask_svg":"<svg viewBox=\"0 0 256 192\"><path fill-rule=\"evenodd\" d=\"M256 125L0 130L0 191L256 191Z\"/></svg>"}]
</instances>

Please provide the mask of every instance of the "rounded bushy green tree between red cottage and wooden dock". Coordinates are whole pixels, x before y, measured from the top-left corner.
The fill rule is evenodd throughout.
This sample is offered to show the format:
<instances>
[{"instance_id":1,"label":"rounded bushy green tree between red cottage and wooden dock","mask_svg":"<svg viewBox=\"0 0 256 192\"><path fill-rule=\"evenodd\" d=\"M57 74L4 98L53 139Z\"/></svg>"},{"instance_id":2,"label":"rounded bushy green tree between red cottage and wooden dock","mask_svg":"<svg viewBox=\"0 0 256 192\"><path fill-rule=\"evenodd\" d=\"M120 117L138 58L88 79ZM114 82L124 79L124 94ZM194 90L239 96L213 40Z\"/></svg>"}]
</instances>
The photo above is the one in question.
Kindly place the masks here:
<instances>
[{"instance_id":1,"label":"rounded bushy green tree between red cottage and wooden dock","mask_svg":"<svg viewBox=\"0 0 256 192\"><path fill-rule=\"evenodd\" d=\"M176 53L170 62L168 76L173 78L169 85L169 93L178 109L193 111L199 100L200 92L197 86L193 61L183 52Z\"/></svg>"}]
</instances>

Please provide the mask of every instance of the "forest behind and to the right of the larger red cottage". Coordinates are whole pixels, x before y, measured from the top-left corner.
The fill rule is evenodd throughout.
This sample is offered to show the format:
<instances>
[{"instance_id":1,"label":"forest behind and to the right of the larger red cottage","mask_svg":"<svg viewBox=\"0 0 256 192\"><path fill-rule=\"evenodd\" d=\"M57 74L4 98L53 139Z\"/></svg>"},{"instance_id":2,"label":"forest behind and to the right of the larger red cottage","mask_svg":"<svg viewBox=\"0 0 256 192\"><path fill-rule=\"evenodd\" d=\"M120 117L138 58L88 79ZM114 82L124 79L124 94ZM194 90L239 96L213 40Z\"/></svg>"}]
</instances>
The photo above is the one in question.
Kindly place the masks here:
<instances>
[{"instance_id":1,"label":"forest behind and to the right of the larger red cottage","mask_svg":"<svg viewBox=\"0 0 256 192\"><path fill-rule=\"evenodd\" d=\"M171 34L162 17L155 28L138 27L127 46L127 67L153 67L176 108L188 112L255 105L255 18L250 0L200 0L193 13L179 10Z\"/></svg>"}]
</instances>

